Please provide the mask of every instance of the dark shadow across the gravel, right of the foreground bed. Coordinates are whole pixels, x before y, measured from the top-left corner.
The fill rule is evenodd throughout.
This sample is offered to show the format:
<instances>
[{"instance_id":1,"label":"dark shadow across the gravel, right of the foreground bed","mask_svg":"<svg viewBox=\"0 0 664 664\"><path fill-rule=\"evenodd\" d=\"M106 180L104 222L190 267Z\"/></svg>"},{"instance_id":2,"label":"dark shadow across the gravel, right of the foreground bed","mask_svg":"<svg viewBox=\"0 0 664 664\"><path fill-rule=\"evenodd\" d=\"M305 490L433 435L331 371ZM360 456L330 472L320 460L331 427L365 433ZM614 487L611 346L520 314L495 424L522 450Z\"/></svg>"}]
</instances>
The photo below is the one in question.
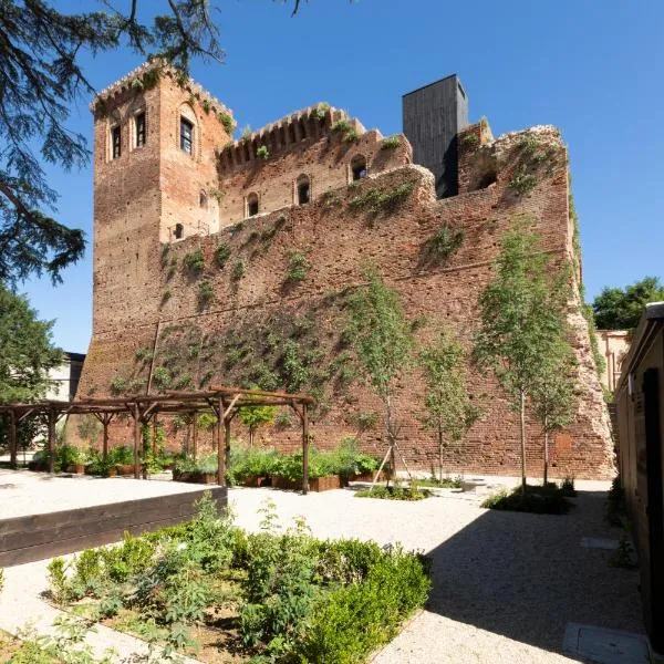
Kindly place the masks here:
<instances>
[{"instance_id":1,"label":"dark shadow across the gravel, right of the foreground bed","mask_svg":"<svg viewBox=\"0 0 664 664\"><path fill-rule=\"evenodd\" d=\"M428 611L558 653L568 622L643 632L637 573L580 546L620 536L603 520L605 497L580 491L561 516L484 512L428 553Z\"/></svg>"}]
</instances>

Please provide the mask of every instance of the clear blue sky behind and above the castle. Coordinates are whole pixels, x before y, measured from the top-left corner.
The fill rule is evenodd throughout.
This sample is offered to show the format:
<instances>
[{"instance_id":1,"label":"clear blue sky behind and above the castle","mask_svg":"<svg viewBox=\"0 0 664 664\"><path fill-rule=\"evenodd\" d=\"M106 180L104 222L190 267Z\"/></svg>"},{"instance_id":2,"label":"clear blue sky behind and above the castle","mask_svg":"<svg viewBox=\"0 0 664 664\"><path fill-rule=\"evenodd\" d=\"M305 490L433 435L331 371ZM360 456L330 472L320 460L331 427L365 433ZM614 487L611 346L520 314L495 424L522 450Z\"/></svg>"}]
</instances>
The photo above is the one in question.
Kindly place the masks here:
<instances>
[{"instance_id":1,"label":"clear blue sky behind and above the castle","mask_svg":"<svg viewBox=\"0 0 664 664\"><path fill-rule=\"evenodd\" d=\"M54 3L62 11L96 4ZM392 134L401 131L402 94L456 72L470 120L486 115L494 135L538 124L562 131L589 299L605 284L663 277L662 0L310 0L295 18L279 1L217 4L226 63L196 62L191 74L234 110L240 127L326 101ZM142 59L125 51L84 62L102 89ZM90 137L89 102L73 107L71 124ZM61 193L60 218L86 231L89 250L63 284L33 280L21 290L42 318L56 319L58 344L86 352L92 170L48 173Z\"/></svg>"}]
</instances>

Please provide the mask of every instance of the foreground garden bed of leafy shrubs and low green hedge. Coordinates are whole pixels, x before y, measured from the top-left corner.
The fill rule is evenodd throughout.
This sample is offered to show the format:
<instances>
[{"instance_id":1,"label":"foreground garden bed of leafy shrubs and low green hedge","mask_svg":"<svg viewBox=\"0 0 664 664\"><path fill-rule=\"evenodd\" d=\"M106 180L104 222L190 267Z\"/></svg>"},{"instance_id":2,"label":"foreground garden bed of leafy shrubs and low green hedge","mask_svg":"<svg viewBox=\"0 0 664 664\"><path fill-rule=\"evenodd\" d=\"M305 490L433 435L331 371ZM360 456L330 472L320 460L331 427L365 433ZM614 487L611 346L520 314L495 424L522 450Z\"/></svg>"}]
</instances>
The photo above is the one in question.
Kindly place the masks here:
<instances>
[{"instance_id":1,"label":"foreground garden bed of leafy shrubs and low green hedge","mask_svg":"<svg viewBox=\"0 0 664 664\"><path fill-rule=\"evenodd\" d=\"M204 499L189 523L54 559L52 600L215 664L361 663L425 603L421 556L317 540L301 522L284 531L273 505L261 511L261 531L246 533Z\"/></svg>"}]
</instances>

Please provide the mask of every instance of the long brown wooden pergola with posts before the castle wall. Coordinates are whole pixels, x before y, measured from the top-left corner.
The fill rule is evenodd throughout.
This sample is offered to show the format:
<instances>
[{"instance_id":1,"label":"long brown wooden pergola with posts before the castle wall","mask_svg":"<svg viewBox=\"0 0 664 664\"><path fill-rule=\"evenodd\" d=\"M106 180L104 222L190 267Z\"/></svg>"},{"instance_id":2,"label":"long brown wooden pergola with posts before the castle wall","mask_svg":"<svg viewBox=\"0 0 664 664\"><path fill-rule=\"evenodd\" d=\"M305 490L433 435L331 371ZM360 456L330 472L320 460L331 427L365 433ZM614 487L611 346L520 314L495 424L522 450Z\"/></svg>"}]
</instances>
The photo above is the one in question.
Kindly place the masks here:
<instances>
[{"instance_id":1,"label":"long brown wooden pergola with posts before the castle wall","mask_svg":"<svg viewBox=\"0 0 664 664\"><path fill-rule=\"evenodd\" d=\"M262 406L291 407L302 425L302 491L309 491L309 406L313 398L305 394L286 392L263 392L239 387L212 386L207 391L167 391L159 395L139 395L114 398L90 398L75 402L40 401L31 404L2 404L0 415L9 418L10 465L17 467L18 430L27 417L41 416L48 426L49 471L54 468L55 425L66 415L93 415L103 427L102 455L108 454L108 425L118 415L129 415L134 421L134 477L142 476L141 430L152 422L156 424L159 414L190 415L194 426L194 454L196 454L197 417L200 412L211 411L216 417L214 440L219 461L217 484L226 484L226 466L230 456L230 423L240 408Z\"/></svg>"}]
</instances>

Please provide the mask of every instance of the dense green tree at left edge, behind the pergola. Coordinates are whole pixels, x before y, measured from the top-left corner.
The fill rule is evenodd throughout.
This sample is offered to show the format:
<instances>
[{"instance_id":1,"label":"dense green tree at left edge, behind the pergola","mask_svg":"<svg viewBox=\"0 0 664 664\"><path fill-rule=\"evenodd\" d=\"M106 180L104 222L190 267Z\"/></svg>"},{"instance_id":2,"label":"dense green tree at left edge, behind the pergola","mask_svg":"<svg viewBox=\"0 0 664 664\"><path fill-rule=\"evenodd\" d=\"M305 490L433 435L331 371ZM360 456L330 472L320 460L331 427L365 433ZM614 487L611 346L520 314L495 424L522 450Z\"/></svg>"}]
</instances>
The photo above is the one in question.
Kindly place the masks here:
<instances>
[{"instance_id":1,"label":"dense green tree at left edge, behind the pergola","mask_svg":"<svg viewBox=\"0 0 664 664\"><path fill-rule=\"evenodd\" d=\"M0 403L43 396L49 370L62 361L51 341L52 322L40 321L28 300L0 283Z\"/></svg>"}]
</instances>

